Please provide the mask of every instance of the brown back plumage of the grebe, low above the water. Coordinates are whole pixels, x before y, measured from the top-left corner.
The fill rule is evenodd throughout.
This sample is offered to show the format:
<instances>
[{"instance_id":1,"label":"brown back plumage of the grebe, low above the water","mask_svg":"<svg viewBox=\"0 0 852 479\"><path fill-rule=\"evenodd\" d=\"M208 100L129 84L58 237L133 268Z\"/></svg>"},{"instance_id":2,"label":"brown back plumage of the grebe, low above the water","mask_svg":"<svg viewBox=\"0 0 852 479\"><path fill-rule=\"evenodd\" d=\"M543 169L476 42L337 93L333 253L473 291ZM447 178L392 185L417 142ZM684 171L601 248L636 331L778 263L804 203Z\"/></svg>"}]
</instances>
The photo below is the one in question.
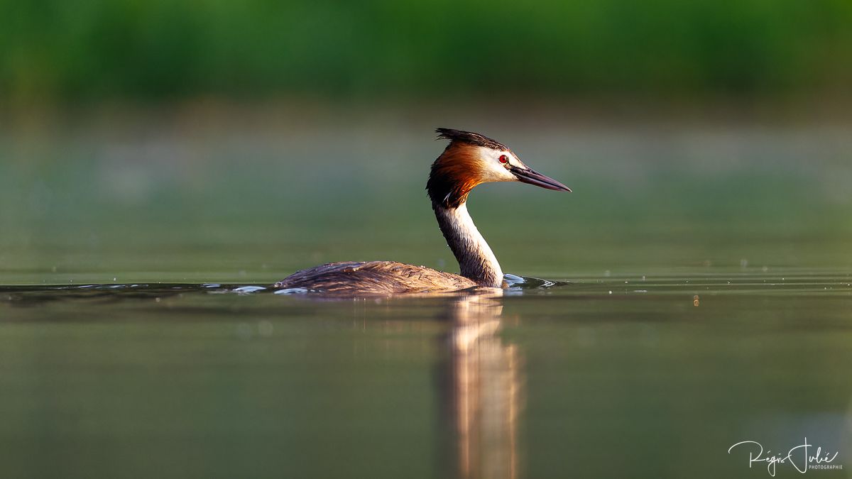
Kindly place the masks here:
<instances>
[{"instance_id":1,"label":"brown back plumage of the grebe, low above the water","mask_svg":"<svg viewBox=\"0 0 852 479\"><path fill-rule=\"evenodd\" d=\"M357 295L453 291L472 286L476 286L473 280L458 274L395 261L328 263L298 271L274 285Z\"/></svg>"}]
</instances>

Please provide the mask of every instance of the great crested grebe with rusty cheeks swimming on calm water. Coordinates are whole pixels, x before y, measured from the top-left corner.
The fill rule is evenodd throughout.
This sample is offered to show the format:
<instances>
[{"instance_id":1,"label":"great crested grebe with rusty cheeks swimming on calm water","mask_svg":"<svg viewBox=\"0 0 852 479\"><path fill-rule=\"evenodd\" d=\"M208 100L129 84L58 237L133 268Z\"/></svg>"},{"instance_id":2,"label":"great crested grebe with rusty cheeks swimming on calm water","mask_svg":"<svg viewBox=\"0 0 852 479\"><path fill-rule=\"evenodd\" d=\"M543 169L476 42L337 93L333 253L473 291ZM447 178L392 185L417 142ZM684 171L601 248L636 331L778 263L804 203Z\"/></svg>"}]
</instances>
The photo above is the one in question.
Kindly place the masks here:
<instances>
[{"instance_id":1,"label":"great crested grebe with rusty cheeks swimming on calm water","mask_svg":"<svg viewBox=\"0 0 852 479\"><path fill-rule=\"evenodd\" d=\"M304 269L275 283L337 294L400 294L452 291L472 286L499 288L503 270L476 229L465 201L470 190L486 182L525 182L556 191L571 189L518 159L508 147L478 133L439 128L450 141L432 164L426 191L440 232L455 255L461 275L394 261L328 263Z\"/></svg>"}]
</instances>

